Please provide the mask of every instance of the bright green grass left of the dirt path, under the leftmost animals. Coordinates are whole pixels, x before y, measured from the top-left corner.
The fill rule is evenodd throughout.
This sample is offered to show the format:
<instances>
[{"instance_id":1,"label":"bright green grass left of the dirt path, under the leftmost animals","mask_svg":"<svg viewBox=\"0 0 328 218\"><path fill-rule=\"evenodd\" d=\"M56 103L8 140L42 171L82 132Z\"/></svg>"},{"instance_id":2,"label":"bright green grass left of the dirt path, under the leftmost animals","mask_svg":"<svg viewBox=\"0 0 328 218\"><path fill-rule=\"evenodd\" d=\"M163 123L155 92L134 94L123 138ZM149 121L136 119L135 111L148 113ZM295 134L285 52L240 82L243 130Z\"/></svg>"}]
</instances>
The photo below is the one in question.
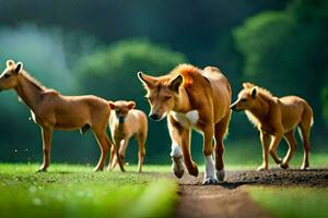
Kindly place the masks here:
<instances>
[{"instance_id":1,"label":"bright green grass left of the dirt path, under the leftmost animals","mask_svg":"<svg viewBox=\"0 0 328 218\"><path fill-rule=\"evenodd\" d=\"M0 165L0 217L171 217L176 183L144 167L145 173L92 172L91 167ZM133 172L131 171L133 170Z\"/></svg>"}]
</instances>

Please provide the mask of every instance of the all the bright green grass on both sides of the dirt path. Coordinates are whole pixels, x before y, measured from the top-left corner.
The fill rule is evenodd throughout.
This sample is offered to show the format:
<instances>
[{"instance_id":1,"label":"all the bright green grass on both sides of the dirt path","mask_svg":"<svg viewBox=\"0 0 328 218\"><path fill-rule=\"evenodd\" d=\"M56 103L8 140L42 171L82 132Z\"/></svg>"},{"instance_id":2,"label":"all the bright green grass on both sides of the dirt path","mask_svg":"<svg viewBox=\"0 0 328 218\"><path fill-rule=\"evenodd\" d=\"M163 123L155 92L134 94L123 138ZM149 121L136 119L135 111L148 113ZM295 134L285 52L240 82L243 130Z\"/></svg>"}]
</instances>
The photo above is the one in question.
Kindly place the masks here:
<instances>
[{"instance_id":1,"label":"all the bright green grass on both sides of the dirt path","mask_svg":"<svg viewBox=\"0 0 328 218\"><path fill-rule=\"evenodd\" d=\"M298 168L301 158L297 155L291 167ZM312 168L328 167L325 154L313 154L311 160ZM258 161L226 158L226 170L255 170ZM58 164L47 173L36 173L37 169L36 164L0 164L0 217L172 217L178 201L177 184L166 177L171 166L145 165L141 174L136 166L126 166L126 173ZM328 205L327 189L250 186L248 191L278 217L323 217Z\"/></svg>"}]
</instances>

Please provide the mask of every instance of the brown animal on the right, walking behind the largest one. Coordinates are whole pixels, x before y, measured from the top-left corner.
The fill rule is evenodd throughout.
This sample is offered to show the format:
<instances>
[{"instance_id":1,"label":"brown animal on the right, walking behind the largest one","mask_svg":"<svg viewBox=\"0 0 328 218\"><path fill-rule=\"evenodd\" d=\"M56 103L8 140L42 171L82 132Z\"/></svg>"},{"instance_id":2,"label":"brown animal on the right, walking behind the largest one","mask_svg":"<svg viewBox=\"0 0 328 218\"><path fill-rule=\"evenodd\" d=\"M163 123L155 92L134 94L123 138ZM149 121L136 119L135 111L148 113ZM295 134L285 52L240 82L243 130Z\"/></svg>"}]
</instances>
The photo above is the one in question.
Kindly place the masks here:
<instances>
[{"instance_id":1,"label":"brown animal on the right, walking behind the largest one","mask_svg":"<svg viewBox=\"0 0 328 218\"><path fill-rule=\"evenodd\" d=\"M251 83L243 83L238 99L231 106L235 111L245 111L246 116L260 132L262 143L262 165L258 170L268 170L269 154L281 168L289 162L296 150L295 129L300 128L303 140L304 158L301 169L309 167L309 134L313 125L313 110L308 102L297 96L276 97L269 90ZM283 159L277 155L277 148L285 138L289 150Z\"/></svg>"}]
</instances>

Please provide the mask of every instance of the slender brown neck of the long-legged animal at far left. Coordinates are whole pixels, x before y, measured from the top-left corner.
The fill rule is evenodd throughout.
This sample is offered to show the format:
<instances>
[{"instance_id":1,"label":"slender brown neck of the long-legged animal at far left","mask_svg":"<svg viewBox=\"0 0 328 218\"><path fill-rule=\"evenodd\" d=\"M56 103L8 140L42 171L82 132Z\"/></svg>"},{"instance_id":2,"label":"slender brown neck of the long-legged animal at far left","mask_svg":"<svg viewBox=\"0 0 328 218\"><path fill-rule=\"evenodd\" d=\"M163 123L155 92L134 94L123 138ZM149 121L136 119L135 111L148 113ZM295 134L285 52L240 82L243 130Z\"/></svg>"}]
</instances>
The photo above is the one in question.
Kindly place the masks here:
<instances>
[{"instance_id":1,"label":"slender brown neck of the long-legged animal at far left","mask_svg":"<svg viewBox=\"0 0 328 218\"><path fill-rule=\"evenodd\" d=\"M20 75L15 90L20 98L28 106L28 108L35 111L42 98L43 88L38 87L24 75Z\"/></svg>"}]
</instances>

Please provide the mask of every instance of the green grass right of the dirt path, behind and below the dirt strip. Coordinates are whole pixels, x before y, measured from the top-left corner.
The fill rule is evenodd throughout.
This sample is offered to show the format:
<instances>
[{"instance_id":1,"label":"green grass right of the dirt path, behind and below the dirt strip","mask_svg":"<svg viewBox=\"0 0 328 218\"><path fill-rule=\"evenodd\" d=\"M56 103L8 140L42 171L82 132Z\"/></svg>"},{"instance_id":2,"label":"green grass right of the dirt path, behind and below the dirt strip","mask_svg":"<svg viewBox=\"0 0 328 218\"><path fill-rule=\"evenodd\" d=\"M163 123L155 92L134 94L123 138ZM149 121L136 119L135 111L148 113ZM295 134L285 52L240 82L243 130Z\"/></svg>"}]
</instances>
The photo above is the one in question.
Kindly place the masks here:
<instances>
[{"instance_id":1,"label":"green grass right of the dirt path, behind and below the dirt strip","mask_svg":"<svg viewBox=\"0 0 328 218\"><path fill-rule=\"evenodd\" d=\"M241 152L238 152L241 153ZM227 165L229 170L249 169L254 170L260 164L261 157L255 157L254 154L236 154L244 165ZM249 158L254 157L254 158ZM300 168L302 162L302 150L293 157L290 167ZM244 160L245 159L245 160ZM227 159L227 164L234 162L234 159ZM277 166L270 160L270 167ZM311 155L311 168L328 168L328 155L325 153L313 153ZM307 218L327 217L328 189L317 187L268 187L251 186L248 189L249 196L268 214L279 218Z\"/></svg>"}]
</instances>

